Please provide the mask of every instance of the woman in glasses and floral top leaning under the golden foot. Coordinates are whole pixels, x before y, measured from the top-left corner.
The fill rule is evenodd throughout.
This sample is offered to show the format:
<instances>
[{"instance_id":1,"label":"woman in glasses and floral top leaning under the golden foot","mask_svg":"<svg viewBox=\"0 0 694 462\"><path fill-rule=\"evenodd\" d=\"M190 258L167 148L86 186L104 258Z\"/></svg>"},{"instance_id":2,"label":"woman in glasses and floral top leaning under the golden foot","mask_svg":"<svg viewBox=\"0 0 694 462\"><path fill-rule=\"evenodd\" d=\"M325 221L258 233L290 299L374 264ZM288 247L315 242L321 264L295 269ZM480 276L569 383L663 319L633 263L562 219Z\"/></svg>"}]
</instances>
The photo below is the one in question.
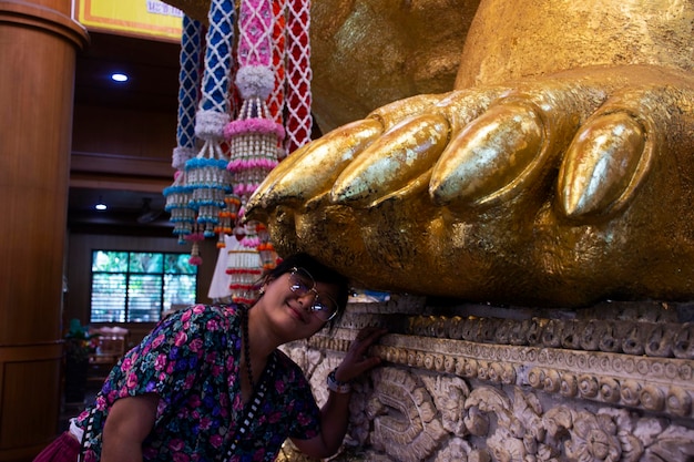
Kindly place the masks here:
<instances>
[{"instance_id":1,"label":"woman in glasses and floral top leaning under the golden foot","mask_svg":"<svg viewBox=\"0 0 694 462\"><path fill-rule=\"evenodd\" d=\"M171 315L35 461L74 461L76 452L103 462L273 461L287 438L309 456L333 455L347 430L349 382L379 363L366 352L385 331L359 332L328 376L322 409L277 347L334 322L348 288L344 276L299 254L264 278L249 308L198 305Z\"/></svg>"}]
</instances>

